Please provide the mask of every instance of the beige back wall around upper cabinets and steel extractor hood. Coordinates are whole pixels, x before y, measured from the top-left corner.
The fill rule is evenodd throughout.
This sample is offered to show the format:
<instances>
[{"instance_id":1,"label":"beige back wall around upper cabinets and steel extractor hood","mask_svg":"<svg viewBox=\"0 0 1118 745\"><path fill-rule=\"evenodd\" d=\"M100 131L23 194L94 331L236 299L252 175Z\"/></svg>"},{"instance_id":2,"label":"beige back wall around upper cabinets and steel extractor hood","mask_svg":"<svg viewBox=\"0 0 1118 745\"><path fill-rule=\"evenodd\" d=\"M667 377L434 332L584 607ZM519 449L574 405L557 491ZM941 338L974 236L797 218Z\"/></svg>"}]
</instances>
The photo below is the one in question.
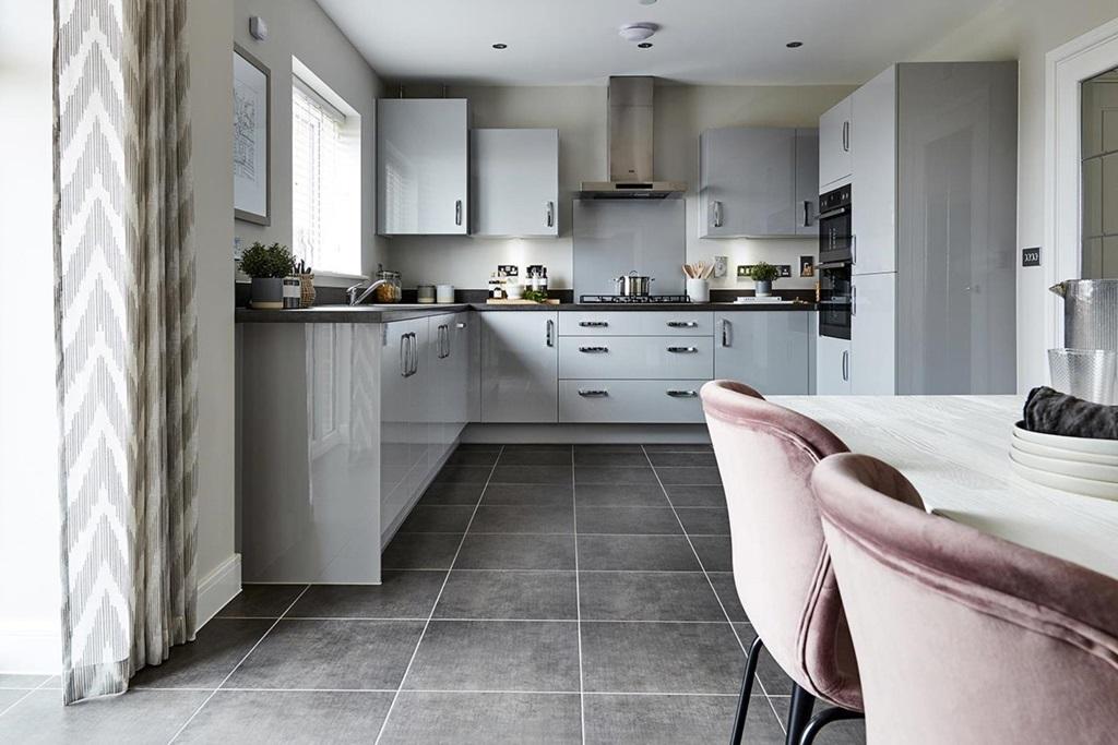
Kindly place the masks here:
<instances>
[{"instance_id":1,"label":"beige back wall around upper cabinets and steel extractor hood","mask_svg":"<svg viewBox=\"0 0 1118 745\"><path fill-rule=\"evenodd\" d=\"M686 256L691 261L729 256L733 264L765 259L796 265L815 254L812 239L700 239L695 219L699 134L717 126L817 126L818 117L849 94L846 86L661 86L656 88L656 178L686 181ZM415 93L409 88L409 94ZM451 283L485 287L498 264L546 264L552 287L571 286L571 194L582 181L606 179L606 88L449 87L468 98L475 127L559 130L559 237L553 239L407 237L386 241L386 266L404 273L406 287ZM731 268L732 275L732 268ZM732 276L716 287L739 286ZM752 283L742 287L751 288ZM811 288L814 279L780 280L777 288Z\"/></svg>"}]
</instances>

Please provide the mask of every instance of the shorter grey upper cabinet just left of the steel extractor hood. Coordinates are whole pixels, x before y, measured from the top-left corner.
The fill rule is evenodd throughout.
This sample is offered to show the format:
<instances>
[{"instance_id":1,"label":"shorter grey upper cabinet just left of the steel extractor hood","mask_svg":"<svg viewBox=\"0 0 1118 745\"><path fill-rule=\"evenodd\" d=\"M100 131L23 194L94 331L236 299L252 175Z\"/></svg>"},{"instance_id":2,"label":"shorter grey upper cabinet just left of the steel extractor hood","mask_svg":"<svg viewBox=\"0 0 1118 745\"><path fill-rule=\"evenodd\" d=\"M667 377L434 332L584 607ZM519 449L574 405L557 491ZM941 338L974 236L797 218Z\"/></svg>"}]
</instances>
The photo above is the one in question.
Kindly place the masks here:
<instances>
[{"instance_id":1,"label":"shorter grey upper cabinet just left of the steel extractor hood","mask_svg":"<svg viewBox=\"0 0 1118 745\"><path fill-rule=\"evenodd\" d=\"M559 131L471 130L475 236L559 235Z\"/></svg>"}]
</instances>

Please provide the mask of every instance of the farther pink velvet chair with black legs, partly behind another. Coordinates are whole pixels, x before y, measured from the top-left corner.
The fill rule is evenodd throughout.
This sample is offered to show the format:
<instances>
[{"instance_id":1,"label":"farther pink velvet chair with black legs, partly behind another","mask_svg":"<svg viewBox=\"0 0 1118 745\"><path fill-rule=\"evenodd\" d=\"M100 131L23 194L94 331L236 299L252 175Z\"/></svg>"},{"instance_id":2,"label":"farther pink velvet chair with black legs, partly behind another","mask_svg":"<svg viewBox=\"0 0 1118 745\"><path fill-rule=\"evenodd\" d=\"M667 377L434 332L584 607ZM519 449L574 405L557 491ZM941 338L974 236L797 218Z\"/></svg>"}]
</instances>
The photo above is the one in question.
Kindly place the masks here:
<instances>
[{"instance_id":1,"label":"farther pink velvet chair with black legs, partly behind another","mask_svg":"<svg viewBox=\"0 0 1118 745\"><path fill-rule=\"evenodd\" d=\"M846 446L748 385L712 381L701 395L726 489L733 581L757 632L731 742L741 739L764 644L795 684L787 730L788 743L799 743L815 699L837 708L819 714L813 732L862 709L858 662L809 485L815 465Z\"/></svg>"}]
</instances>

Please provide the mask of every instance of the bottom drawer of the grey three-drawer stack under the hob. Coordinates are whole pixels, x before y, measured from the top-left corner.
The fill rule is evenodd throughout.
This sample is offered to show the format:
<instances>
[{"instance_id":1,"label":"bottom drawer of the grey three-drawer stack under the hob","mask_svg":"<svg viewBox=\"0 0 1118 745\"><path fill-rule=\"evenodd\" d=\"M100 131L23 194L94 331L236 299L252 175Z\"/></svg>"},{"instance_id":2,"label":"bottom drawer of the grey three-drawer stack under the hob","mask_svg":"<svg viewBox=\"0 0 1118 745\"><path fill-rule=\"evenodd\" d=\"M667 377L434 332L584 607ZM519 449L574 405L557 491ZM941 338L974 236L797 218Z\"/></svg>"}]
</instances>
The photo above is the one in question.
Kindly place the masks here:
<instances>
[{"instance_id":1,"label":"bottom drawer of the grey three-drawer stack under the hob","mask_svg":"<svg viewBox=\"0 0 1118 745\"><path fill-rule=\"evenodd\" d=\"M562 423L702 423L705 380L559 381Z\"/></svg>"}]
</instances>

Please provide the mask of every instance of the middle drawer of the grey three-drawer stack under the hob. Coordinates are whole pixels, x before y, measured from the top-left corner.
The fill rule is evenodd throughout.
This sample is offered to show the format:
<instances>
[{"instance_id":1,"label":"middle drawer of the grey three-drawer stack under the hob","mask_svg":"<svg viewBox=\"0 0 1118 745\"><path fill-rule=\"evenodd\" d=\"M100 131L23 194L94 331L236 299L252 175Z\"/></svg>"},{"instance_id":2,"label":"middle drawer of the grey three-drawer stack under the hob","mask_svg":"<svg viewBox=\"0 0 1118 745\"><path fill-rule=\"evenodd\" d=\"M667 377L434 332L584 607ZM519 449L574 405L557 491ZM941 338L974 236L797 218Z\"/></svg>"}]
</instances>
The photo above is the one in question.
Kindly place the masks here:
<instances>
[{"instance_id":1,"label":"middle drawer of the grey three-drawer stack under the hob","mask_svg":"<svg viewBox=\"0 0 1118 745\"><path fill-rule=\"evenodd\" d=\"M560 336L560 379L702 379L714 376L708 336Z\"/></svg>"}]
</instances>

